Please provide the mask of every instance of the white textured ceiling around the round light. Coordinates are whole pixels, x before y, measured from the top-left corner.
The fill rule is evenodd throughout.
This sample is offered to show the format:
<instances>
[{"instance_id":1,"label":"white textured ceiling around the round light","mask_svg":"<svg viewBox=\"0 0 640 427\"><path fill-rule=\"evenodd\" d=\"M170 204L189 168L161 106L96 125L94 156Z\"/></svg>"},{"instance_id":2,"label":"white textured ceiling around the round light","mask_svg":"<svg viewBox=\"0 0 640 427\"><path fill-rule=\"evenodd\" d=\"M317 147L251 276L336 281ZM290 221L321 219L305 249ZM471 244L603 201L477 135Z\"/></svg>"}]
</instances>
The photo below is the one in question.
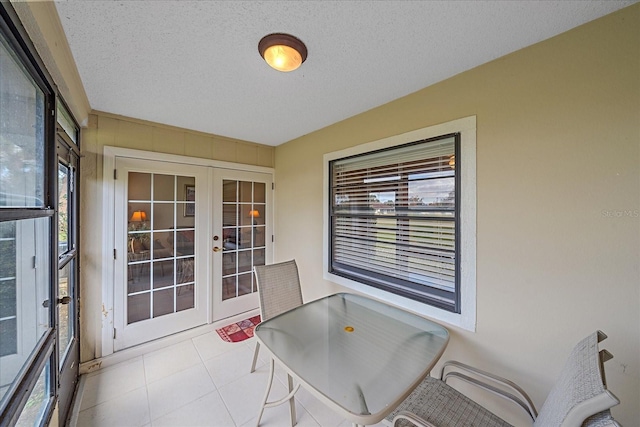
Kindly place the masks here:
<instances>
[{"instance_id":1,"label":"white textured ceiling around the round light","mask_svg":"<svg viewBox=\"0 0 640 427\"><path fill-rule=\"evenodd\" d=\"M637 1L637 0L636 0ZM56 1L91 107L278 145L635 1ZM266 34L305 42L280 73Z\"/></svg>"}]
</instances>

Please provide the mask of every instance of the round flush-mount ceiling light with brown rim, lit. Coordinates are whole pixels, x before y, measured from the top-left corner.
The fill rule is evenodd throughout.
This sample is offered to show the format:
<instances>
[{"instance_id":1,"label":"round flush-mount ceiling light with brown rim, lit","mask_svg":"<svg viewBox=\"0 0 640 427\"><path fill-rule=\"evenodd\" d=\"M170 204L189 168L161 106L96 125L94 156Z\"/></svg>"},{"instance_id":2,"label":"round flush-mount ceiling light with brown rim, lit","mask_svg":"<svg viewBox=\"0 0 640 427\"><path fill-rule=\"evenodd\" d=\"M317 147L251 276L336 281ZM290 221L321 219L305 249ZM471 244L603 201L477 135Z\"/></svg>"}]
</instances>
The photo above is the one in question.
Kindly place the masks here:
<instances>
[{"instance_id":1,"label":"round flush-mount ceiling light with brown rim, lit","mask_svg":"<svg viewBox=\"0 0 640 427\"><path fill-rule=\"evenodd\" d=\"M307 59L307 47L290 34L274 33L258 43L260 56L278 71L293 71Z\"/></svg>"}]
</instances>

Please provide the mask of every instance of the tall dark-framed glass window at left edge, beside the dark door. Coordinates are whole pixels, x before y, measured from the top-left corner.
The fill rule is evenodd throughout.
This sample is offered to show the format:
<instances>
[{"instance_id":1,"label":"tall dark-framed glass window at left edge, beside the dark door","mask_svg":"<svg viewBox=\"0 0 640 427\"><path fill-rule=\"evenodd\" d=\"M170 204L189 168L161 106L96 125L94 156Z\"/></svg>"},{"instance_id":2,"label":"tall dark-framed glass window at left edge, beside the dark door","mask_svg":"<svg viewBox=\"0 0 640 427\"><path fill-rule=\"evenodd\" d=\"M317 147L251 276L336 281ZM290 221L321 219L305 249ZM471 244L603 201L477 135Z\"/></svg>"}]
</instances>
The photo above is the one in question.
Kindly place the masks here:
<instances>
[{"instance_id":1,"label":"tall dark-framed glass window at left edge, beside the dark door","mask_svg":"<svg viewBox=\"0 0 640 427\"><path fill-rule=\"evenodd\" d=\"M53 79L9 2L0 3L0 424L41 425L62 402L54 368L59 250ZM77 147L75 147L77 149ZM66 205L68 206L68 204ZM68 215L67 215L68 218ZM59 227L58 227L59 225ZM66 225L66 228L65 228ZM58 229L59 228L59 229ZM62 248L56 247L60 237ZM69 243L67 243L69 242ZM77 366L77 364L76 364ZM77 368L76 368L77 371ZM70 388L68 388L70 389ZM66 396L71 396L66 392ZM59 408L63 405L59 403ZM66 407L66 406L64 406ZM60 419L65 412L60 409Z\"/></svg>"}]
</instances>

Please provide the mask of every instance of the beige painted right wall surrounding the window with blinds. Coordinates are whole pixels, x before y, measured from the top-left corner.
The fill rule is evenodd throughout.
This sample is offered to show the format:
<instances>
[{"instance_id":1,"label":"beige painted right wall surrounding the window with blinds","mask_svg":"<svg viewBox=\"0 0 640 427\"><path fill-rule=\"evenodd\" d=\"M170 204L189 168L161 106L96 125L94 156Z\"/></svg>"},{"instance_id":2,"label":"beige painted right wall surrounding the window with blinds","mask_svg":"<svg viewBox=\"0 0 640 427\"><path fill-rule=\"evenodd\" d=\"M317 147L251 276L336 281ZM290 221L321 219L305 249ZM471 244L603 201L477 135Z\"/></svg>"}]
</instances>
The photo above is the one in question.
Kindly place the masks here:
<instances>
[{"instance_id":1,"label":"beige painted right wall surrounding the window with blinds","mask_svg":"<svg viewBox=\"0 0 640 427\"><path fill-rule=\"evenodd\" d=\"M444 359L516 380L539 407L602 329L613 414L638 425L638 28L640 4L278 146L276 257L297 259L305 299L344 290L322 280L323 154L476 115L477 331L451 327Z\"/></svg>"}]
</instances>

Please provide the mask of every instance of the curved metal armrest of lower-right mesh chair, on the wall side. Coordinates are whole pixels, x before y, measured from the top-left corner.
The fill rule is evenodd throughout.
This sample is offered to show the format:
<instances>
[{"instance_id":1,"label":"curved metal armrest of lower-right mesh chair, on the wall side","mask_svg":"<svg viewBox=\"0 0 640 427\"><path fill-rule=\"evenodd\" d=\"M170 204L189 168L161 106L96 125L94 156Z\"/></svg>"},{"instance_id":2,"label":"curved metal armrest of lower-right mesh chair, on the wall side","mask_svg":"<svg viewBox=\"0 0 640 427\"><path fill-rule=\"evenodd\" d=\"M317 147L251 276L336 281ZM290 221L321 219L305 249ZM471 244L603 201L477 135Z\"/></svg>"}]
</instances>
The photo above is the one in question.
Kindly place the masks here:
<instances>
[{"instance_id":1,"label":"curved metal armrest of lower-right mesh chair, on the wall side","mask_svg":"<svg viewBox=\"0 0 640 427\"><path fill-rule=\"evenodd\" d=\"M455 372L451 370L449 372L445 372L447 368L451 368L451 367L454 367L461 371L470 372L473 375L476 375L485 380L489 380L490 382L483 382L477 378L470 377L469 375L465 375L460 372ZM520 388L516 383L509 381L506 378L499 377L490 372L483 371L481 369L475 368L473 366L469 366L467 364L464 364L455 360L447 361L442 366L442 373L440 374L440 379L446 383L447 379L450 377L458 378L462 381L465 381L469 384L473 384L497 396L500 396L504 399L514 402L515 404L520 406L534 421L538 417L538 412L536 411L535 405L531 401L531 398L529 397L529 395L522 388ZM499 387L496 387L496 385L504 387L508 390L511 390L514 393L505 391Z\"/></svg>"}]
</instances>

